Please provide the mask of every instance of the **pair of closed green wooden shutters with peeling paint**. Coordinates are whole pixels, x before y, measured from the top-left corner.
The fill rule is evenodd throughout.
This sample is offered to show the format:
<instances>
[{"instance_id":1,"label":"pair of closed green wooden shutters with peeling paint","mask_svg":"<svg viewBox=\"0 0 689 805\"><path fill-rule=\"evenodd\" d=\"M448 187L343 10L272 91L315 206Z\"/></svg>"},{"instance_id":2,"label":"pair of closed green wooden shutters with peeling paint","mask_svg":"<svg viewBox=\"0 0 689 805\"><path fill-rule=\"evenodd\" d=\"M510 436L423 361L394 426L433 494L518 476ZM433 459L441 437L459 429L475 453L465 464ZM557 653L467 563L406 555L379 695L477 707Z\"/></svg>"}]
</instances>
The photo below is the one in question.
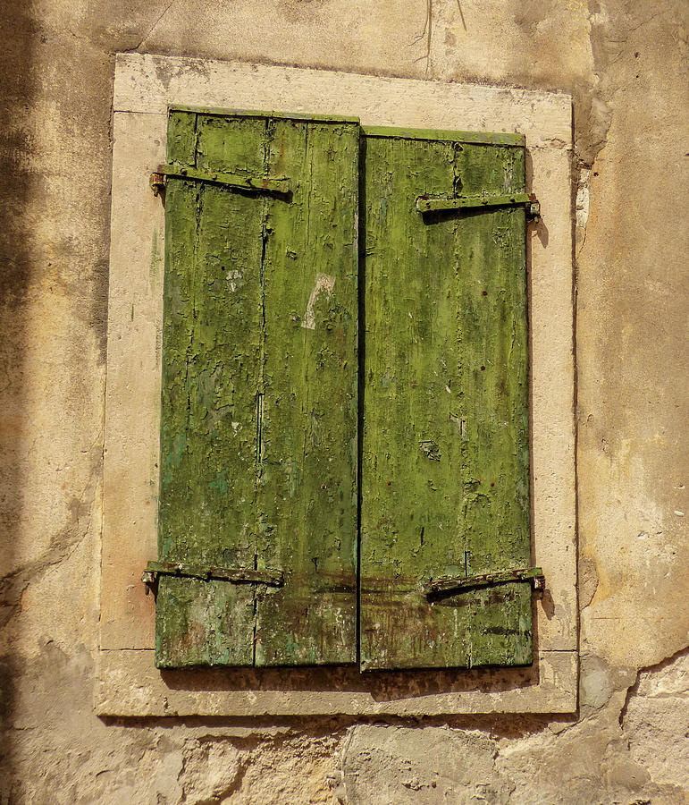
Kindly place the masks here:
<instances>
[{"instance_id":1,"label":"pair of closed green wooden shutters with peeling paint","mask_svg":"<svg viewBox=\"0 0 689 805\"><path fill-rule=\"evenodd\" d=\"M523 137L167 139L156 665L530 664Z\"/></svg>"}]
</instances>

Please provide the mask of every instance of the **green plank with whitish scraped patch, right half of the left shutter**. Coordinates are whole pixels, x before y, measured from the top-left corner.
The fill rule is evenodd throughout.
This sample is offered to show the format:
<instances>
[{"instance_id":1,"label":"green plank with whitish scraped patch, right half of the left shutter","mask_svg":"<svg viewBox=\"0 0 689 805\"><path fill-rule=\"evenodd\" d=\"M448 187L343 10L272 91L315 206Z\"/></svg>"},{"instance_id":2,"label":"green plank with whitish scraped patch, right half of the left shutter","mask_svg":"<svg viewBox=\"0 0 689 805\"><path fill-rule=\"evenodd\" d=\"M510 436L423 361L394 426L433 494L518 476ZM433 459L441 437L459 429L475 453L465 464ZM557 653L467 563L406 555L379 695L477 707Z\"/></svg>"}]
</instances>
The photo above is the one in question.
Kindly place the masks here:
<instances>
[{"instance_id":1,"label":"green plank with whitish scraped patch, right half of the left shutter","mask_svg":"<svg viewBox=\"0 0 689 805\"><path fill-rule=\"evenodd\" d=\"M256 665L357 657L357 123L271 121Z\"/></svg>"}]
</instances>

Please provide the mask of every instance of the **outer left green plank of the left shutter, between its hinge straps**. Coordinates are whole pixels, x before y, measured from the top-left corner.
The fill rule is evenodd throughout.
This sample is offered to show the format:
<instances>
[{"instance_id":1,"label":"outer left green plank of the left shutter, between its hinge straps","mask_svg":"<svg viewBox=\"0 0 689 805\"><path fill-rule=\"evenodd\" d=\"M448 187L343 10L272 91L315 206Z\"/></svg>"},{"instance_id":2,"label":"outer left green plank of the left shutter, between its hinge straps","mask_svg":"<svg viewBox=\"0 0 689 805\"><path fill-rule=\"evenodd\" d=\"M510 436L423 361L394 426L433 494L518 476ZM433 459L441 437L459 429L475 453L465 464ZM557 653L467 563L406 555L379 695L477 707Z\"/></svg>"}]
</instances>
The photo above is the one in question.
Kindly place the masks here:
<instances>
[{"instance_id":1,"label":"outer left green plank of the left shutter, between its hinge straps","mask_svg":"<svg viewBox=\"0 0 689 805\"><path fill-rule=\"evenodd\" d=\"M172 114L168 161L257 173L263 170L264 128L260 121L219 128L196 114ZM158 547L163 560L255 567L261 205L256 197L211 184L168 182ZM230 237L232 220L241 226ZM254 592L254 586L218 580L161 578L157 664L251 665Z\"/></svg>"}]
</instances>

